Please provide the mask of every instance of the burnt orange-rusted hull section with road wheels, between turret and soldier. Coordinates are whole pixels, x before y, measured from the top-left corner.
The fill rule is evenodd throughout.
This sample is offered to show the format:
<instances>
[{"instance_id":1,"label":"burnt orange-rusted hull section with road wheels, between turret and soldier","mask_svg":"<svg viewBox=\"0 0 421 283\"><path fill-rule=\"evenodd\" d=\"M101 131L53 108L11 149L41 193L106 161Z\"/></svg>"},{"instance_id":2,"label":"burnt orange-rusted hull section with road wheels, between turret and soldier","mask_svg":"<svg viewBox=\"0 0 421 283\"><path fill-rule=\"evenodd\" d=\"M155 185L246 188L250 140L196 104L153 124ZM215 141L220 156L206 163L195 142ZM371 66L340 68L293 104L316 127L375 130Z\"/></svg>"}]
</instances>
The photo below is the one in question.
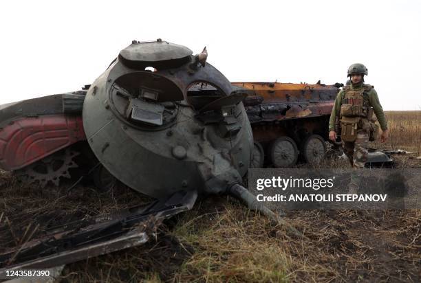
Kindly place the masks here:
<instances>
[{"instance_id":1,"label":"burnt orange-rusted hull section with road wheels, between turret and soldier","mask_svg":"<svg viewBox=\"0 0 421 283\"><path fill-rule=\"evenodd\" d=\"M252 167L290 168L317 163L326 153L330 113L343 84L233 82L247 93L255 139ZM300 158L301 157L301 158Z\"/></svg>"}]
</instances>

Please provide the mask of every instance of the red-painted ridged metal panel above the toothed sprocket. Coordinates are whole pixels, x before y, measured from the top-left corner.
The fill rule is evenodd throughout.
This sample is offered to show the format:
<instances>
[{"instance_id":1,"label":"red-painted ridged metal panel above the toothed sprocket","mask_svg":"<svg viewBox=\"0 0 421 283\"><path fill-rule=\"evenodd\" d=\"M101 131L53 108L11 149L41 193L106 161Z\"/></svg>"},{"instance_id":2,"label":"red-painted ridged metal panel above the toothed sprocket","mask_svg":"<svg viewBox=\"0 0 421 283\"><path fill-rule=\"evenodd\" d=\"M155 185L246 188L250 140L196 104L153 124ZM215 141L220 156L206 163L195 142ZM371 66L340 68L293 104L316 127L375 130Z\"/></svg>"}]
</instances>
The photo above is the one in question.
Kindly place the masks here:
<instances>
[{"instance_id":1,"label":"red-painted ridged metal panel above the toothed sprocket","mask_svg":"<svg viewBox=\"0 0 421 283\"><path fill-rule=\"evenodd\" d=\"M86 139L81 116L21 117L0 128L0 168L17 170Z\"/></svg>"}]
</instances>

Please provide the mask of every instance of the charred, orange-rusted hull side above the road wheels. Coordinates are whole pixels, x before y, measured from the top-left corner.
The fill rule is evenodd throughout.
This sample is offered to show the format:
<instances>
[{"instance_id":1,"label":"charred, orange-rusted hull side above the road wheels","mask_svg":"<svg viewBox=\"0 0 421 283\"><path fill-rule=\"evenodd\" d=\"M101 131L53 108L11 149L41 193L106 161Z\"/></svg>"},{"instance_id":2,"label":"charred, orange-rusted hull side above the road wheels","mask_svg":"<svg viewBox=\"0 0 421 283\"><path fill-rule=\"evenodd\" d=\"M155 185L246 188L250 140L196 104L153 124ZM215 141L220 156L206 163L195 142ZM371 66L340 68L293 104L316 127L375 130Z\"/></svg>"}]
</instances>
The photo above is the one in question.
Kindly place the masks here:
<instances>
[{"instance_id":1,"label":"charred, orange-rusted hull side above the road wheels","mask_svg":"<svg viewBox=\"0 0 421 283\"><path fill-rule=\"evenodd\" d=\"M288 136L296 144L312 134L327 139L334 100L343 84L232 82L244 99L255 141L263 144Z\"/></svg>"}]
</instances>

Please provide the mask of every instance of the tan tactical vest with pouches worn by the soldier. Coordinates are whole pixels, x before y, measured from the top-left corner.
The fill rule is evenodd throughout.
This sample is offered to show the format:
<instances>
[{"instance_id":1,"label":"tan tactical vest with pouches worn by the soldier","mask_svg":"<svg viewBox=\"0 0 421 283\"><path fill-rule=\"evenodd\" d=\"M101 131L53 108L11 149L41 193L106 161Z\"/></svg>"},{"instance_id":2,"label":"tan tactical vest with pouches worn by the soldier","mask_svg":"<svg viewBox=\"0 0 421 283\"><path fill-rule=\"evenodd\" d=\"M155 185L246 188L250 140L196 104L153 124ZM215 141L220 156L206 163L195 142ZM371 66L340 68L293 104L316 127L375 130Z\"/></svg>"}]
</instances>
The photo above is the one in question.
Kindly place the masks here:
<instances>
[{"instance_id":1,"label":"tan tactical vest with pouches worn by the soldier","mask_svg":"<svg viewBox=\"0 0 421 283\"><path fill-rule=\"evenodd\" d=\"M368 91L371 88L371 85L363 84L360 89L351 89L349 85L343 89L340 112L341 139L343 141L355 141L357 131L360 129L374 134L373 108L369 104L368 97ZM371 137L371 139L374 138Z\"/></svg>"}]
</instances>

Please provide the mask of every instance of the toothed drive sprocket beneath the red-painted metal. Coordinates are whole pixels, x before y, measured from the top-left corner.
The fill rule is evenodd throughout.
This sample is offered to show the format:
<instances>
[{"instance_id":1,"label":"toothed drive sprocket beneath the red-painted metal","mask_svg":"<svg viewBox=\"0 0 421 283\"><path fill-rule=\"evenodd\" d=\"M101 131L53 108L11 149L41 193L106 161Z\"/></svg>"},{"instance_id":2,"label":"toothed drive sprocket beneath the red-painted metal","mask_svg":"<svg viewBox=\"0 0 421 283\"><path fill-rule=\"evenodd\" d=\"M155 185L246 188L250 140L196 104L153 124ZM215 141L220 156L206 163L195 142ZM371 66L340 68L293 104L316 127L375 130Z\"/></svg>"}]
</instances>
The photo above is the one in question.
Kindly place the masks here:
<instances>
[{"instance_id":1,"label":"toothed drive sprocket beneath the red-painted metal","mask_svg":"<svg viewBox=\"0 0 421 283\"><path fill-rule=\"evenodd\" d=\"M70 179L70 168L77 168L78 165L73 158L79 155L79 152L66 148L54 152L52 155L44 157L17 172L17 177L28 185L39 182L41 188L44 188L51 181L54 185L60 185L60 178Z\"/></svg>"}]
</instances>

